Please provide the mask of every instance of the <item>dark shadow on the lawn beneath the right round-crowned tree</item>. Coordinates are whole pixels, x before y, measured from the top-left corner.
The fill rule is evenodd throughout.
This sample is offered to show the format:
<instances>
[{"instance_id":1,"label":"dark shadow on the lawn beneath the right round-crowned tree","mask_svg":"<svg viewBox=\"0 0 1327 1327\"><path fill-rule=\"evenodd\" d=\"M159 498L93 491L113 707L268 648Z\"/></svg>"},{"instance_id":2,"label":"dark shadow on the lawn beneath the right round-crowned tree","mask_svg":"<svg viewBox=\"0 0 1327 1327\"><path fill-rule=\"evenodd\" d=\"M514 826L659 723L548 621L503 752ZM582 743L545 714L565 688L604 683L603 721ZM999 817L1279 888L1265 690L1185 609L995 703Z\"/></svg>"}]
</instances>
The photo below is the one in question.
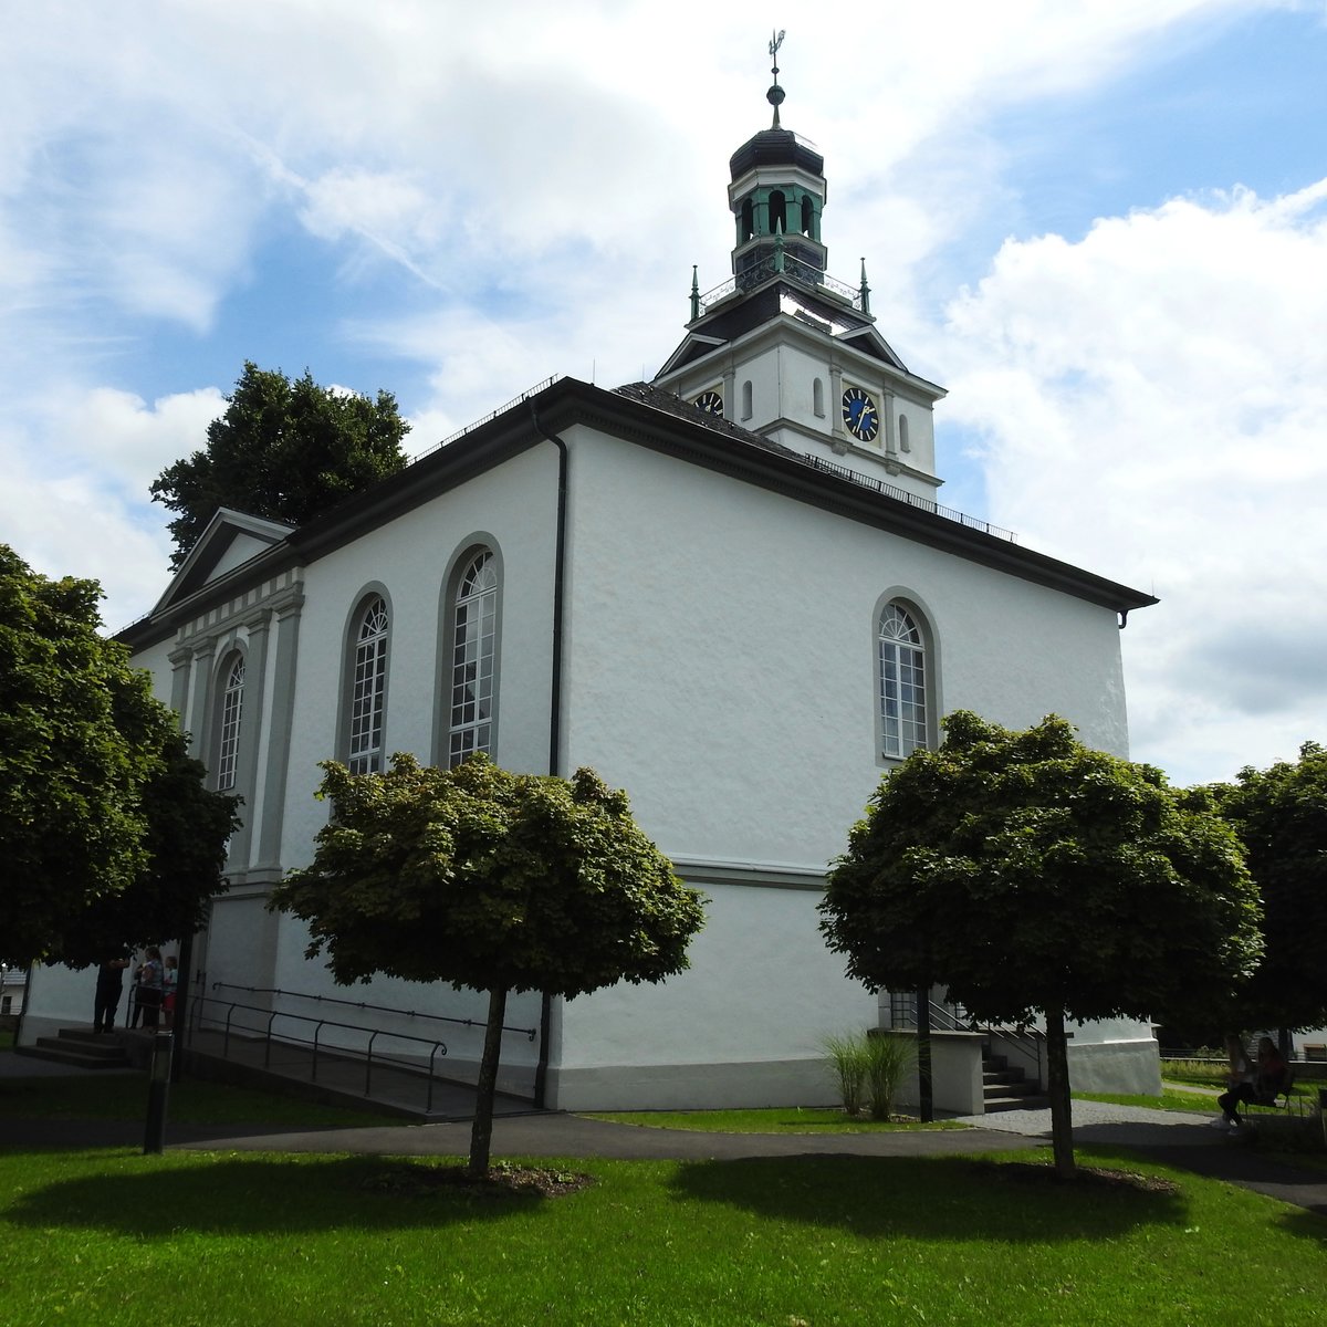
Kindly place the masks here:
<instances>
[{"instance_id":1,"label":"dark shadow on the lawn beneath the right round-crowned tree","mask_svg":"<svg viewBox=\"0 0 1327 1327\"><path fill-rule=\"evenodd\" d=\"M971 1157L799 1156L698 1161L671 1182L677 1197L760 1217L843 1226L859 1235L1059 1242L1111 1239L1141 1225L1182 1225L1170 1181Z\"/></svg>"}]
</instances>

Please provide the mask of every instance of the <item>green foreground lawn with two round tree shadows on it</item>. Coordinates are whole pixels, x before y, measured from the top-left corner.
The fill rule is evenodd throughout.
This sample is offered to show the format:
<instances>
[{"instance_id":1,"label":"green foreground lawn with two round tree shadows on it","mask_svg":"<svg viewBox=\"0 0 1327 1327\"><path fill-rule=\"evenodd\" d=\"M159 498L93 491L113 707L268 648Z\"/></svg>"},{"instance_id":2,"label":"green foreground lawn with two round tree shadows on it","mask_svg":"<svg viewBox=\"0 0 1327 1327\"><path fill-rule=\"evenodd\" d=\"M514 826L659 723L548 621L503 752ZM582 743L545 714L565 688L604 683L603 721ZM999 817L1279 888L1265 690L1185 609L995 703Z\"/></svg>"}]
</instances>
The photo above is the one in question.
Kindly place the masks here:
<instances>
[{"instance_id":1,"label":"green foreground lawn with two round tree shadows on it","mask_svg":"<svg viewBox=\"0 0 1327 1327\"><path fill-rule=\"evenodd\" d=\"M1152 1186L1064 1185L1026 1156L568 1161L596 1184L549 1200L401 1182L434 1161L0 1153L4 1319L1320 1320L1323 1217L1112 1153L1080 1156Z\"/></svg>"}]
</instances>

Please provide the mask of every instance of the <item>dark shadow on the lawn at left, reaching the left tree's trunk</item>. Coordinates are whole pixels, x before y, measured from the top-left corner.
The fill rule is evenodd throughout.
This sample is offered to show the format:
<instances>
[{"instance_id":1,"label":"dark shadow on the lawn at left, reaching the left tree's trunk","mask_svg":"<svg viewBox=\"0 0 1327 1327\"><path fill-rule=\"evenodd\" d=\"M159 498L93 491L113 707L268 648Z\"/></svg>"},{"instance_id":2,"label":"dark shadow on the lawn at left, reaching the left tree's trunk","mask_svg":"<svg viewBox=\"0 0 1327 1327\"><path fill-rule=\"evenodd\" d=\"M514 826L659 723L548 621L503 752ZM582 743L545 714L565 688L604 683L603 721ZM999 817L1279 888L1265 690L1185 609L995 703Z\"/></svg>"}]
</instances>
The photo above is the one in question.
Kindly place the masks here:
<instances>
[{"instance_id":1,"label":"dark shadow on the lawn at left, reaching the left tree's trunk","mask_svg":"<svg viewBox=\"0 0 1327 1327\"><path fill-rule=\"evenodd\" d=\"M5 1210L15 1225L94 1229L139 1238L401 1230L537 1210L536 1190L475 1188L455 1158L204 1157L142 1168L102 1157L96 1174L40 1184Z\"/></svg>"}]
</instances>

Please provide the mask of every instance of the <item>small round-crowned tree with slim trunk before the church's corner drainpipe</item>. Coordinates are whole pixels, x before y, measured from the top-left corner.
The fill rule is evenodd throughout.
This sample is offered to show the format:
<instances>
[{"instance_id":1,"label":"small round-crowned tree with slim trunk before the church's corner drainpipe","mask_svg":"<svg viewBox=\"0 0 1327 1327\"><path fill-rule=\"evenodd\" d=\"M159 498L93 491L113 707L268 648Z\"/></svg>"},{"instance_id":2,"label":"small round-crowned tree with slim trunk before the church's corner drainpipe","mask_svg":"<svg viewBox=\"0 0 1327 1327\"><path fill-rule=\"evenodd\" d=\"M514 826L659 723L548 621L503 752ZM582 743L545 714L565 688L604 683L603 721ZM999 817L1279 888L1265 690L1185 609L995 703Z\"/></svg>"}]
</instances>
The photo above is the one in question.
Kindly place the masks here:
<instances>
[{"instance_id":1,"label":"small round-crowned tree with slim trunk before the church's corner drainpipe","mask_svg":"<svg viewBox=\"0 0 1327 1327\"><path fill-rule=\"evenodd\" d=\"M687 966L701 896L593 770L518 775L487 756L454 770L393 756L385 774L324 762L332 819L272 906L309 922L337 982L386 973L488 991L470 1173L488 1170L510 991L583 995Z\"/></svg>"}]
</instances>

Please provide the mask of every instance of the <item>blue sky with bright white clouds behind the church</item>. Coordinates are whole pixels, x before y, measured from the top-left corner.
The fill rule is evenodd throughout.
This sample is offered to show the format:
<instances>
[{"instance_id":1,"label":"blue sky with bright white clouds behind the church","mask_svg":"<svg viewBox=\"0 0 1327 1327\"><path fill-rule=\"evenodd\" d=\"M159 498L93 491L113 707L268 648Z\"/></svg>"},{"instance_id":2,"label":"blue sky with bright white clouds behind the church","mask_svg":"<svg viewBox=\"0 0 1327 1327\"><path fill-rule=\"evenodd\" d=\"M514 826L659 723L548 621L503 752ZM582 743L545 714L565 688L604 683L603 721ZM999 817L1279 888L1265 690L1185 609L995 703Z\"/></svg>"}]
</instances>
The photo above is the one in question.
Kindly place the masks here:
<instances>
[{"instance_id":1,"label":"blue sky with bright white clouds behind the church","mask_svg":"<svg viewBox=\"0 0 1327 1327\"><path fill-rule=\"evenodd\" d=\"M652 376L691 264L729 275L772 19L829 271L865 256L949 389L941 500L1161 598L1133 755L1193 783L1327 740L1327 3L807 13L7 5L0 540L146 612L149 484L245 358L394 391L411 453L553 373Z\"/></svg>"}]
</instances>

